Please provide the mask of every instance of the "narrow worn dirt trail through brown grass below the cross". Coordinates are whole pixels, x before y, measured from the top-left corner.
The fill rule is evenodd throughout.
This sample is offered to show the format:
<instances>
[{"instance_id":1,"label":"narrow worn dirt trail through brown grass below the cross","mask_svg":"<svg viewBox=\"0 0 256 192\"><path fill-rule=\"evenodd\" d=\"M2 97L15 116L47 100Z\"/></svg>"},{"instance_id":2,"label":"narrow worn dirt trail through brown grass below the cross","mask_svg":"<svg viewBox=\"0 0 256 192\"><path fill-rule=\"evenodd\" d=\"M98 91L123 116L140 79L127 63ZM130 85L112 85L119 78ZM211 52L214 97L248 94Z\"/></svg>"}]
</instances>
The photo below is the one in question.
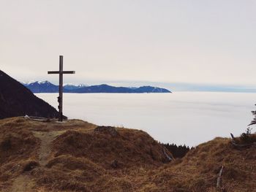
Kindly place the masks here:
<instances>
[{"instance_id":1,"label":"narrow worn dirt trail through brown grass below the cross","mask_svg":"<svg viewBox=\"0 0 256 192\"><path fill-rule=\"evenodd\" d=\"M51 149L50 145L60 134L65 131L32 131L34 137L41 140L41 145L39 149L39 166L45 166L48 163L48 158L50 157ZM12 183L12 188L10 192L33 192L35 183L33 178L29 173L20 174Z\"/></svg>"}]
</instances>

